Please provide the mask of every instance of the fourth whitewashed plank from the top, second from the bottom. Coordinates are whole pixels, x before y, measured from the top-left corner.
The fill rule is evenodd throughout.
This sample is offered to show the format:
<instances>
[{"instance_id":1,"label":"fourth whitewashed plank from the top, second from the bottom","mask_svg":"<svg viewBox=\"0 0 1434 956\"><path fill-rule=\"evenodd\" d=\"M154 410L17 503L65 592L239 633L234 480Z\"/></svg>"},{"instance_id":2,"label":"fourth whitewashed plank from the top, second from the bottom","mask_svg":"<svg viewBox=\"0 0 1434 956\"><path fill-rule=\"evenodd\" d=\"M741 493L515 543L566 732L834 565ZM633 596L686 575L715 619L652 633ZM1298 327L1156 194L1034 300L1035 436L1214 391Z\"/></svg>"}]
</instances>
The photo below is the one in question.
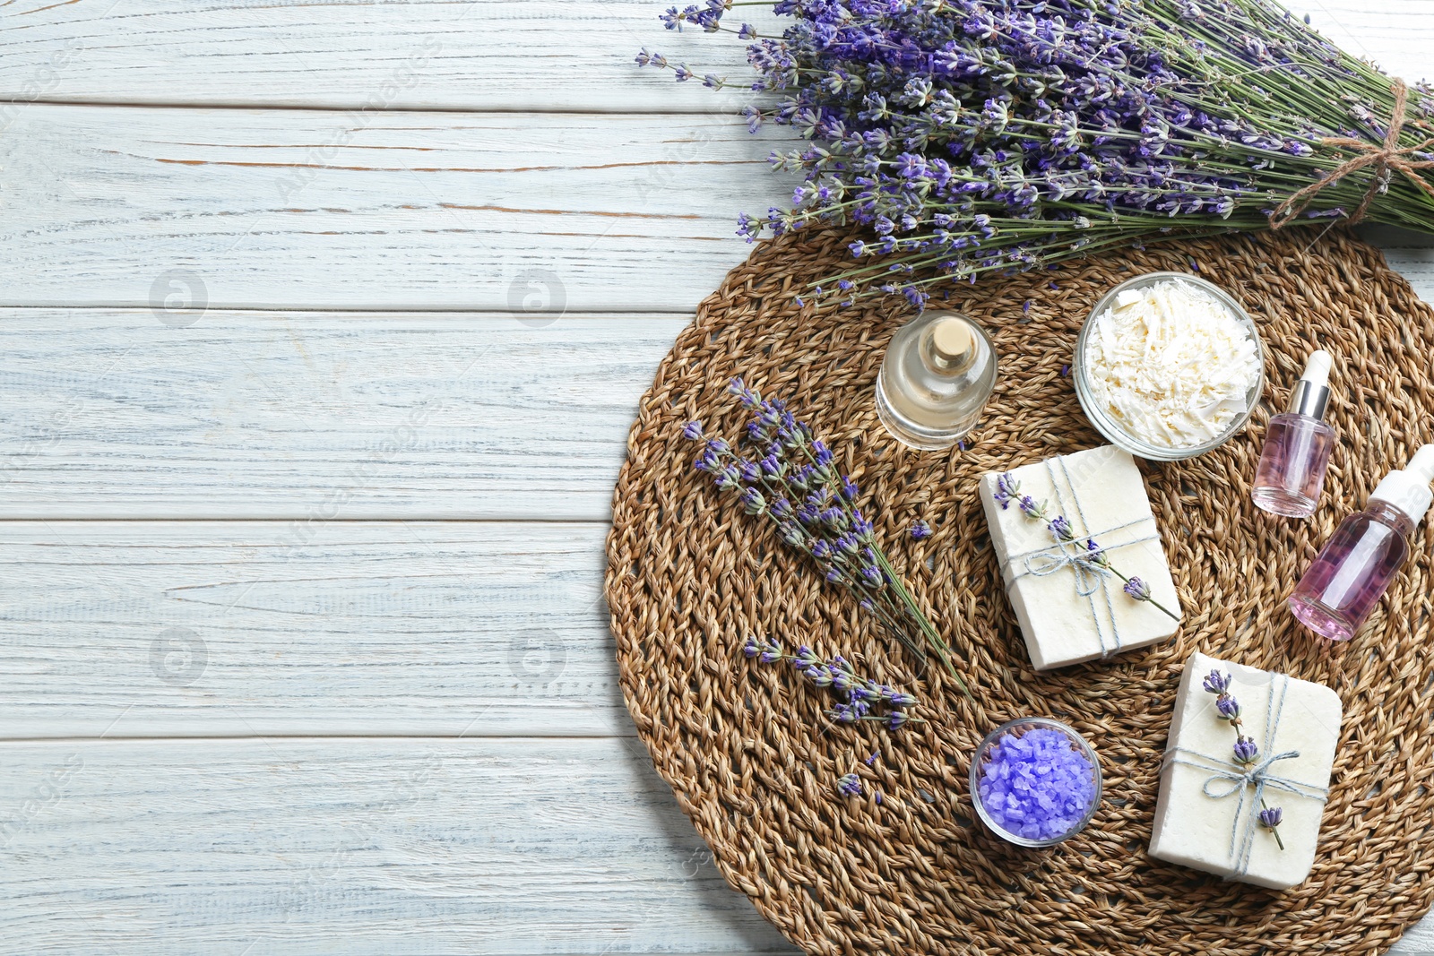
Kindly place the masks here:
<instances>
[{"instance_id":1,"label":"fourth whitewashed plank from the top, second from the bottom","mask_svg":"<svg viewBox=\"0 0 1434 956\"><path fill-rule=\"evenodd\" d=\"M0 522L0 738L631 735L605 535Z\"/></svg>"}]
</instances>

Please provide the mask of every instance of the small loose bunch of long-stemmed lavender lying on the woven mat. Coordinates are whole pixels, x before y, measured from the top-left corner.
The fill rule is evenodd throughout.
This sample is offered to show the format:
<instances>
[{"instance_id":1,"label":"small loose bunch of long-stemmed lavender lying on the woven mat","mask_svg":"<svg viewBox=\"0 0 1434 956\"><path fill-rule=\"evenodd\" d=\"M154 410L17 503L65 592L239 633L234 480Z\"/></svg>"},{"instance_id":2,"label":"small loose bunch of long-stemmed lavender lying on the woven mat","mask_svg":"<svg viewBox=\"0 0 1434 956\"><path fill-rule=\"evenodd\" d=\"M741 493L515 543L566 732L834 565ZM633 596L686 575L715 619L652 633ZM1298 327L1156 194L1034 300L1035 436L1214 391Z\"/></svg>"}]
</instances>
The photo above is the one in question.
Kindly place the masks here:
<instances>
[{"instance_id":1,"label":"small loose bunch of long-stemmed lavender lying on the woven mat","mask_svg":"<svg viewBox=\"0 0 1434 956\"><path fill-rule=\"evenodd\" d=\"M873 522L856 506L860 489L837 473L832 449L786 403L763 400L741 378L733 378L728 390L751 411L741 440L746 454L688 421L683 436L703 444L694 467L734 493L749 515L776 525L783 543L807 555L829 583L852 593L918 659L926 659L923 644L935 651L969 698L951 648L878 545Z\"/></svg>"}]
</instances>

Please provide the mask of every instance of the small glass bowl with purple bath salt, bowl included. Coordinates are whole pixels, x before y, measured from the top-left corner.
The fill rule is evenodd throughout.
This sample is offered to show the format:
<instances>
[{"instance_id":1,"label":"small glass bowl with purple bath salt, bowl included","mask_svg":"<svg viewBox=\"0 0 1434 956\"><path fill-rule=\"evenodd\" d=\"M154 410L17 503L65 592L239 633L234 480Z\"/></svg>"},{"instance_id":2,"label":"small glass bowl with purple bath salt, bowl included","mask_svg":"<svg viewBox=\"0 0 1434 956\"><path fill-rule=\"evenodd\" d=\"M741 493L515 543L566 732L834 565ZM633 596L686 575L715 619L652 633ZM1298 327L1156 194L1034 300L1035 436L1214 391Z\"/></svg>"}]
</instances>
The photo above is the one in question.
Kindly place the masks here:
<instances>
[{"instance_id":1,"label":"small glass bowl with purple bath salt, bowl included","mask_svg":"<svg viewBox=\"0 0 1434 956\"><path fill-rule=\"evenodd\" d=\"M1048 717L1022 717L987 734L971 758L971 803L1002 840L1051 847L1100 806L1100 761L1086 738Z\"/></svg>"}]
</instances>

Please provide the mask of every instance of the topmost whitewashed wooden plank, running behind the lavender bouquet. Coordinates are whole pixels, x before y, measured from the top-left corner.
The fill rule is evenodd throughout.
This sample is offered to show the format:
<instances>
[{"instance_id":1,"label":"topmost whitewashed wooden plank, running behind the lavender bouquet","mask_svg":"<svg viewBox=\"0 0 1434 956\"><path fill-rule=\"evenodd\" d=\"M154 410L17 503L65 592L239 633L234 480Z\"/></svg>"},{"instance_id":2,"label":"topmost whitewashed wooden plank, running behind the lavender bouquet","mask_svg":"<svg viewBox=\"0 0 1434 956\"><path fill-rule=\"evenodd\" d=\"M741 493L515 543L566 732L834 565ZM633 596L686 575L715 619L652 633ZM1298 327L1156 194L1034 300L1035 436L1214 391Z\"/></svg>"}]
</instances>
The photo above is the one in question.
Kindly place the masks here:
<instances>
[{"instance_id":1,"label":"topmost whitewashed wooden plank, running behind the lavender bouquet","mask_svg":"<svg viewBox=\"0 0 1434 956\"><path fill-rule=\"evenodd\" d=\"M106 10L105 7L109 6ZM736 112L741 90L638 70L660 49L700 75L754 73L731 34L670 33L658 0L11 0L0 7L0 100L326 106L334 109L531 109ZM1427 0L1292 4L1349 52L1408 80L1430 76ZM733 24L780 33L789 19L739 7ZM3 110L3 107L0 107ZM3 122L3 119L0 119Z\"/></svg>"}]
</instances>

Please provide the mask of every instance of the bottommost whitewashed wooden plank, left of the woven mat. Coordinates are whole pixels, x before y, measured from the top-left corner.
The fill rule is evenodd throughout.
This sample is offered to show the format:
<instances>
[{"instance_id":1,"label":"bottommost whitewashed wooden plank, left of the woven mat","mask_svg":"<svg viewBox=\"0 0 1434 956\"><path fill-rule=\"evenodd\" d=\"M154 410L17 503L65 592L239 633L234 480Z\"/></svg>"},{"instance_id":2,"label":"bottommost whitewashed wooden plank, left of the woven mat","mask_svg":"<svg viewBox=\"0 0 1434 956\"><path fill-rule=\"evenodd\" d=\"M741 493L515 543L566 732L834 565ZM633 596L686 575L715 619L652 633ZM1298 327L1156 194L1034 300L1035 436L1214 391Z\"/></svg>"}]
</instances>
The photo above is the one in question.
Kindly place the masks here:
<instances>
[{"instance_id":1,"label":"bottommost whitewashed wooden plank, left of the woven mat","mask_svg":"<svg viewBox=\"0 0 1434 956\"><path fill-rule=\"evenodd\" d=\"M54 741L0 763L7 952L794 952L637 741Z\"/></svg>"}]
</instances>

